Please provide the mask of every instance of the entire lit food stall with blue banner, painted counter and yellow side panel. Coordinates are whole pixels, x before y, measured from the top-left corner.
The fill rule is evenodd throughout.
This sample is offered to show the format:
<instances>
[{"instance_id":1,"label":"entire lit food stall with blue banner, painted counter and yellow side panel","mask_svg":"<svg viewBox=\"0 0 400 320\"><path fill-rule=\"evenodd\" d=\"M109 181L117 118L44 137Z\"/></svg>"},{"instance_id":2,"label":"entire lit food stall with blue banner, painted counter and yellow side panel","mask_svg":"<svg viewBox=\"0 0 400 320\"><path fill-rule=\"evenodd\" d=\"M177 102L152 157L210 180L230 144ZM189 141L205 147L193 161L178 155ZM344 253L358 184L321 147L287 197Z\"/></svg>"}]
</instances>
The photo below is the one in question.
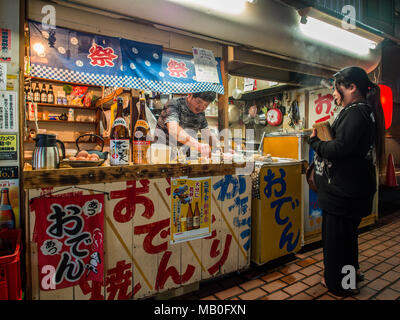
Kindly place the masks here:
<instances>
[{"instance_id":1,"label":"entire lit food stall with blue banner, painted counter and yellow side panel","mask_svg":"<svg viewBox=\"0 0 400 320\"><path fill-rule=\"evenodd\" d=\"M269 98L281 95L281 105L274 105L275 101L271 100L262 106L266 108L264 122L268 120L267 111L273 109L269 119L272 124L267 126L272 130L268 134L278 132L283 137L287 134L285 130L289 129L290 119L288 116L279 118L276 109L286 106L289 110L291 102L300 103L308 97L307 90L299 88L302 87L301 79L296 77L308 72L305 70L310 70L312 76L331 75L344 61L348 62L347 57L341 55L336 59L335 55L329 54L326 63L310 67L304 56L300 62L287 60L294 52L306 56L306 50L284 48L286 52L271 59L266 52L250 52L236 46L236 32L230 35L233 39L225 39L228 42L215 41L224 40L224 36L215 38L210 30L224 31L213 27L220 22L209 12L201 13L202 19L192 19L192 22L202 24L197 33L193 30L194 33L179 33L187 26L175 26L177 29L168 26L180 19L170 21L162 10L154 12L146 5L135 8L134 14L147 19L142 24L132 19L121 19L117 12L111 14L102 9L100 13L94 13L92 8L78 2L76 7L51 3L57 9L57 17L64 17L57 21L60 26L57 25L55 32L51 28L43 30L40 24L34 23L43 18L41 9L48 2L33 0L27 8L31 25L26 26L30 32L25 34L26 44L29 37L31 40L36 37L35 40L39 41L31 41L25 52L25 84L31 88L26 94L29 96L30 92L40 90L40 102L21 103L20 115L20 157L24 167L21 171L23 201L20 212L25 228L27 298L112 300L171 297L196 289L200 281L246 269L250 259L263 264L299 250L304 244L307 216L304 196L307 186L302 176L305 162L300 161L306 158L303 158L304 154L301 157L274 154L278 151L275 147L272 151L265 149L265 139L270 137L267 135L263 138L264 149L261 149L264 154L257 155L254 172L252 164L255 158L247 157L243 163L241 156L236 157L239 161L233 163L156 160L156 163L137 165L130 154L129 165L110 166L107 155L110 153L110 129L117 109L115 100L123 97L123 115L132 131L140 91L147 91L149 108L146 113L150 111L157 119L162 104L172 95L211 90L219 94L218 106L214 103L209 108L207 120L210 126L224 128L228 120L228 98L232 96L225 91L228 87L229 90L233 88L227 84L228 72L230 75L261 76L261 79L286 83L278 89L273 84L267 89L271 90L267 95ZM153 1L156 2L161 3ZM109 5L107 2L103 4L104 8ZM276 10L282 13L286 10L277 8L278 5L272 1L260 5L271 6L273 10L268 12ZM79 10L80 6L83 10ZM150 13L154 15L149 17ZM193 14L193 11L188 13ZM204 16L213 20L204 23ZM80 25L81 21L86 23ZM236 21L225 22L231 23L232 30L238 25ZM274 24L273 19L269 24ZM83 30L76 30L77 26ZM245 29L238 31L244 32ZM268 46L282 49L279 43L294 43L281 41L282 32L287 39L288 35L292 37L291 31L283 28L273 30L260 33L274 37L273 42L265 41ZM204 36L207 33L211 38ZM256 34L252 37L255 36L256 43L260 43ZM242 34L241 39L250 38ZM39 44L35 46L36 42ZM218 83L197 81L191 54L193 47L207 48L215 54ZM270 48L263 49L269 51ZM146 52L145 56L143 52ZM323 48L321 52L329 50ZM338 64L331 66L329 59L332 56ZM363 61L370 65L374 62ZM44 99L47 101L41 97L44 84L47 93ZM50 84L53 100L49 95ZM259 88L260 84L261 81L257 83ZM257 91L255 86L252 90ZM231 105L240 103L240 98L233 98ZM233 107L230 109L234 110ZM307 110L303 109L304 118L300 118L294 131L307 127ZM281 113L286 114L284 109ZM238 119L242 121L243 114ZM281 122L278 125L277 120ZM55 134L57 139L49 141L46 138L43 140L46 142L39 146L38 141L33 140L38 134ZM86 139L78 143L82 136ZM304 153L300 138L296 136L295 139L294 149L283 149ZM256 146L263 141L251 142ZM228 144L230 148L230 141ZM54 168L36 166L39 162L34 165L36 146L46 148L46 155L49 154L47 149L53 148L52 156L46 158L52 158ZM232 146L238 153L254 151L240 143L232 142ZM81 159L81 164L68 161L78 156L81 150L96 153L99 158ZM61 154L67 161L54 160ZM88 161L93 162L88 164ZM271 220L265 214L264 206L271 209L268 213L276 214L279 207L276 204L284 199L279 190L268 186L268 182L273 182L268 179L272 174L283 178L282 171L287 178L284 180L288 187L286 194L293 198L293 204L286 204L285 212L278 214L278 219ZM254 188L257 180L259 184ZM302 188L296 189L294 186L301 185L301 180ZM186 197L180 196L180 187L184 190L185 186L191 199L200 203L199 209L194 202L192 207L188 206L185 202L187 194L184 194ZM269 193L269 187L274 192ZM255 189L259 198L254 196ZM78 211L82 214L79 215ZM43 215L44 212L49 213L50 219ZM192 226L189 230L190 216L193 216L192 223L196 216L200 216L199 228ZM250 245L250 238L254 239L253 245Z\"/></svg>"}]
</instances>

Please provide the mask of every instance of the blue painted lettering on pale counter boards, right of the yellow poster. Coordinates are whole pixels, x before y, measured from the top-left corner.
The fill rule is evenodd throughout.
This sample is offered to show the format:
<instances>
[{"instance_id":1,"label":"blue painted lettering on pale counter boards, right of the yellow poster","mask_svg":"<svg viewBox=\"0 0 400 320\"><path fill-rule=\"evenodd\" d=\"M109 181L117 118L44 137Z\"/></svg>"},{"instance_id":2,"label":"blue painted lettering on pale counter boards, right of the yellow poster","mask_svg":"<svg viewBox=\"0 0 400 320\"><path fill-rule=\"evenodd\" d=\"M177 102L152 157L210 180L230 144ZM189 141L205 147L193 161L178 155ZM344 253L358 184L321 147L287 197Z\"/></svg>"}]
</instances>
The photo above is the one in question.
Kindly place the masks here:
<instances>
[{"instance_id":1,"label":"blue painted lettering on pale counter boards, right of the yellow poster","mask_svg":"<svg viewBox=\"0 0 400 320\"><path fill-rule=\"evenodd\" d=\"M232 186L232 191L228 192L229 187ZM237 209L237 215L233 217L233 225L238 228L245 228L240 232L240 237L247 241L243 244L245 250L250 249L250 228L251 228L251 216L242 218L241 216L246 216L248 212L248 202L249 197L245 196L241 198L240 196L246 192L246 179L244 176L234 177L232 175L226 175L223 179L219 180L213 185L213 189L219 190L218 200L224 201L225 199L234 199L234 204L228 207L229 212L233 209Z\"/></svg>"}]
</instances>

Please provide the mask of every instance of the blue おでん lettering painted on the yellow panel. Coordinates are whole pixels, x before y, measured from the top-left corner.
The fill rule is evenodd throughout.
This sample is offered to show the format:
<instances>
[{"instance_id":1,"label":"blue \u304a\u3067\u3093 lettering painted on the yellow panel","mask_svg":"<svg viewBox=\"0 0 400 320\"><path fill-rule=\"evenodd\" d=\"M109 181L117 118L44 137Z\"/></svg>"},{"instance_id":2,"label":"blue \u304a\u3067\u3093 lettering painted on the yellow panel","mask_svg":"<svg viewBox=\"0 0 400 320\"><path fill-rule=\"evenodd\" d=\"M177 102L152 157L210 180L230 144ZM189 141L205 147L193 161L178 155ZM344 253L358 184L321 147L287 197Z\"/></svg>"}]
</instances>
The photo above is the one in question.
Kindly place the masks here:
<instances>
[{"instance_id":1,"label":"blue \u304a\u3067\u3093 lettering painted on the yellow panel","mask_svg":"<svg viewBox=\"0 0 400 320\"><path fill-rule=\"evenodd\" d=\"M286 193L286 172L283 168L279 168L280 177L275 178L275 173L272 172L271 169L268 169L267 174L264 176L264 181L267 185L264 188L264 194L269 199L272 196L272 192L274 192L275 197L279 198L273 202L271 202L271 209L275 208L275 221L279 225L286 225L282 231L281 238L279 240L279 249L282 249L286 245L286 249L288 252L293 251L300 238L300 230L297 231L296 239L293 241L294 233L290 232L292 229L292 222L290 221L289 216L282 217L281 209L285 203L290 203L292 210L295 210L296 207L300 205L298 199L294 199L292 197L283 197ZM274 187L275 185L279 185L280 188L277 189ZM273 189L274 187L274 189ZM285 208L287 208L286 206ZM287 212L287 210L285 210Z\"/></svg>"}]
</instances>

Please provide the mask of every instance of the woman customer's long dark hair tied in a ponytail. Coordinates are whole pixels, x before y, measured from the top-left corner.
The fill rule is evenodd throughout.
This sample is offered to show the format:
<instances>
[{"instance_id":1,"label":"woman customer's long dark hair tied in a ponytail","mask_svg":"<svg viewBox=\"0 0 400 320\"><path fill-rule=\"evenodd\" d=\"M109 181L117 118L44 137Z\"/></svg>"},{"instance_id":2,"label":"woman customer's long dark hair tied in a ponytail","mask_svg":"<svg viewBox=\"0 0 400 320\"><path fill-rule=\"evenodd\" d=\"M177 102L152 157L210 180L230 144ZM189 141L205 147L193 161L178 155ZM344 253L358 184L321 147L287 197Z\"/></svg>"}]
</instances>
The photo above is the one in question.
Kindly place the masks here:
<instances>
[{"instance_id":1,"label":"woman customer's long dark hair tied in a ponytail","mask_svg":"<svg viewBox=\"0 0 400 320\"><path fill-rule=\"evenodd\" d=\"M343 85L349 88L350 84L355 84L360 94L364 97L369 106L372 107L375 118L375 150L376 160L379 167L384 159L384 138L385 138L385 118L381 104L381 91L377 84L373 83L364 69L360 67L347 67L334 74L335 86L339 94L343 94L339 90L339 86Z\"/></svg>"}]
</instances>

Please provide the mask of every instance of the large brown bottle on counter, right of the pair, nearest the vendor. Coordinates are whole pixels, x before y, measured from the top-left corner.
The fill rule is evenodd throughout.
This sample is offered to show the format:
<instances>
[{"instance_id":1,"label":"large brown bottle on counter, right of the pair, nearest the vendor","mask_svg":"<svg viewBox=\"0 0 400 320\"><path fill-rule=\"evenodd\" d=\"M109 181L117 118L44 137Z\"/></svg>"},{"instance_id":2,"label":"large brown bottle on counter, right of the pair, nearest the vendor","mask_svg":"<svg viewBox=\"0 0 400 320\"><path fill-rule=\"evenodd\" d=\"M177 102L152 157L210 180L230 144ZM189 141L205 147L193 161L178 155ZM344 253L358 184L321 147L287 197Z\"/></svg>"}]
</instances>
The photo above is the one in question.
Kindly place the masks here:
<instances>
[{"instance_id":1,"label":"large brown bottle on counter, right of the pair, nearest the vendor","mask_svg":"<svg viewBox=\"0 0 400 320\"><path fill-rule=\"evenodd\" d=\"M139 99L139 116L133 129L133 162L135 164L147 164L147 151L150 147L150 141L147 141L147 136L150 132L150 126L146 118L146 99L141 93Z\"/></svg>"}]
</instances>

